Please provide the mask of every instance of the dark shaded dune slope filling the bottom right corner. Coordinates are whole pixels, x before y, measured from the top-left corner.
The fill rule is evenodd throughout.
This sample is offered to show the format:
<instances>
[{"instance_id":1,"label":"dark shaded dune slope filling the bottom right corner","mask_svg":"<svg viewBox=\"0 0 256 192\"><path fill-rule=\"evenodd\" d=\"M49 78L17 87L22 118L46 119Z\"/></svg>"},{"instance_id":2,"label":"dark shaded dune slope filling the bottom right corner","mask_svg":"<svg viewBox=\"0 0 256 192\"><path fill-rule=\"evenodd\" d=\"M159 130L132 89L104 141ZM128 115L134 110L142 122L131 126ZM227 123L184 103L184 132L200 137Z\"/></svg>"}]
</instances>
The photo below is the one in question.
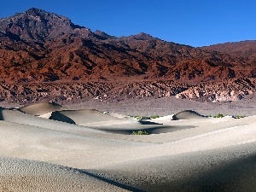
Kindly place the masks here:
<instances>
[{"instance_id":1,"label":"dark shaded dune slope filling the bottom right corner","mask_svg":"<svg viewBox=\"0 0 256 192\"><path fill-rule=\"evenodd\" d=\"M256 143L245 143L133 160L90 172L144 191L254 191L255 147Z\"/></svg>"}]
</instances>

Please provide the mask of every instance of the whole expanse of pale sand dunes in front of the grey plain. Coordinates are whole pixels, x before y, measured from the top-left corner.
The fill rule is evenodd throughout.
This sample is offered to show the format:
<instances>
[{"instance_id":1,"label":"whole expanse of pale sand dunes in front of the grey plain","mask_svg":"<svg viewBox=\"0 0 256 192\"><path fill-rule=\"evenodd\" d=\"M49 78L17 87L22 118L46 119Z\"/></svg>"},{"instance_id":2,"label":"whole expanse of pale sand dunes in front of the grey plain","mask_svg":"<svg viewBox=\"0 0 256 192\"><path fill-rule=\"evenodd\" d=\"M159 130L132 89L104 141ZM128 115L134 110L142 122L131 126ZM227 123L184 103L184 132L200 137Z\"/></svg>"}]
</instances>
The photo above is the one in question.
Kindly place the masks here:
<instances>
[{"instance_id":1,"label":"whole expanse of pale sand dunes in front of the grey plain","mask_svg":"<svg viewBox=\"0 0 256 192\"><path fill-rule=\"evenodd\" d=\"M185 110L136 119L52 103L0 112L0 191L256 187L254 115L208 118ZM132 135L134 131L148 135Z\"/></svg>"}]
</instances>

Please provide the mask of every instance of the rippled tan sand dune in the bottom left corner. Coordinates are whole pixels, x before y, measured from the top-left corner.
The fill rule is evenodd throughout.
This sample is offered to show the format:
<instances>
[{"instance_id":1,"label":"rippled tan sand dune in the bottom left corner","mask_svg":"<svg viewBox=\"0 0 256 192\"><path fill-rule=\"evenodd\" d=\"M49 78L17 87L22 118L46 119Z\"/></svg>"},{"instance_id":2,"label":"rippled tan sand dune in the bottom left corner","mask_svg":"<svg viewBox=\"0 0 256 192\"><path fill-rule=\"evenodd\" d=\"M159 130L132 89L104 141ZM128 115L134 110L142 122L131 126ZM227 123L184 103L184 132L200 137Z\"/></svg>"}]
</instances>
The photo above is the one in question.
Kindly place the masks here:
<instances>
[{"instance_id":1,"label":"rippled tan sand dune in the bottom left corner","mask_svg":"<svg viewBox=\"0 0 256 192\"><path fill-rule=\"evenodd\" d=\"M13 158L0 160L0 191L129 191L66 166Z\"/></svg>"}]
</instances>

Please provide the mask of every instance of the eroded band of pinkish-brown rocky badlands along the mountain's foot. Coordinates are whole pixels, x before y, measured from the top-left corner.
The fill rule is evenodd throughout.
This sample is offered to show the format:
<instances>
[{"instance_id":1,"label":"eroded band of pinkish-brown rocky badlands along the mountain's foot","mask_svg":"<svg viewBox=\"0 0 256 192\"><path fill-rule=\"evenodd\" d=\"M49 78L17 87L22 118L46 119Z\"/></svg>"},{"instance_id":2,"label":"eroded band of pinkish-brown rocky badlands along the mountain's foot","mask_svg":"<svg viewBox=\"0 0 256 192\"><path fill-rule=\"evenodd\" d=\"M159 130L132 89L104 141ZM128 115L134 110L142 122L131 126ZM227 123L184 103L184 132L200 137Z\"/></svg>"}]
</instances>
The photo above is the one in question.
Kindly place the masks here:
<instances>
[{"instance_id":1,"label":"eroded band of pinkish-brown rocky badlands along the mountain's foot","mask_svg":"<svg viewBox=\"0 0 256 192\"><path fill-rule=\"evenodd\" d=\"M176 96L201 102L238 101L255 92L256 79L234 79L200 85L177 84L174 81L88 82L44 84L0 84L0 101L27 104L31 102L120 102L128 99Z\"/></svg>"}]
</instances>

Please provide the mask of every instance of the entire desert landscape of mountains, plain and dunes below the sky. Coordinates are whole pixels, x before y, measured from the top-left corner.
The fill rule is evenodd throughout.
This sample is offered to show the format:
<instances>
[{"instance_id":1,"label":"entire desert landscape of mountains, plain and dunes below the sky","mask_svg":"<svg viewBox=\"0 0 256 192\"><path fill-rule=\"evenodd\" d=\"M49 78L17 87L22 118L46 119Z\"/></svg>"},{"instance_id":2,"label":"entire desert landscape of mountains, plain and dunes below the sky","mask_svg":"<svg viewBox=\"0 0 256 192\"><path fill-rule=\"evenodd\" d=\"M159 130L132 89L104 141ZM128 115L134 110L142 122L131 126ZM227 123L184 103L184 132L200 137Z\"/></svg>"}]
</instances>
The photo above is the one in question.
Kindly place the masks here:
<instances>
[{"instance_id":1,"label":"entire desert landscape of mountains, plain and dunes below the sky","mask_svg":"<svg viewBox=\"0 0 256 192\"><path fill-rule=\"evenodd\" d=\"M255 54L0 19L0 191L255 191Z\"/></svg>"}]
</instances>

